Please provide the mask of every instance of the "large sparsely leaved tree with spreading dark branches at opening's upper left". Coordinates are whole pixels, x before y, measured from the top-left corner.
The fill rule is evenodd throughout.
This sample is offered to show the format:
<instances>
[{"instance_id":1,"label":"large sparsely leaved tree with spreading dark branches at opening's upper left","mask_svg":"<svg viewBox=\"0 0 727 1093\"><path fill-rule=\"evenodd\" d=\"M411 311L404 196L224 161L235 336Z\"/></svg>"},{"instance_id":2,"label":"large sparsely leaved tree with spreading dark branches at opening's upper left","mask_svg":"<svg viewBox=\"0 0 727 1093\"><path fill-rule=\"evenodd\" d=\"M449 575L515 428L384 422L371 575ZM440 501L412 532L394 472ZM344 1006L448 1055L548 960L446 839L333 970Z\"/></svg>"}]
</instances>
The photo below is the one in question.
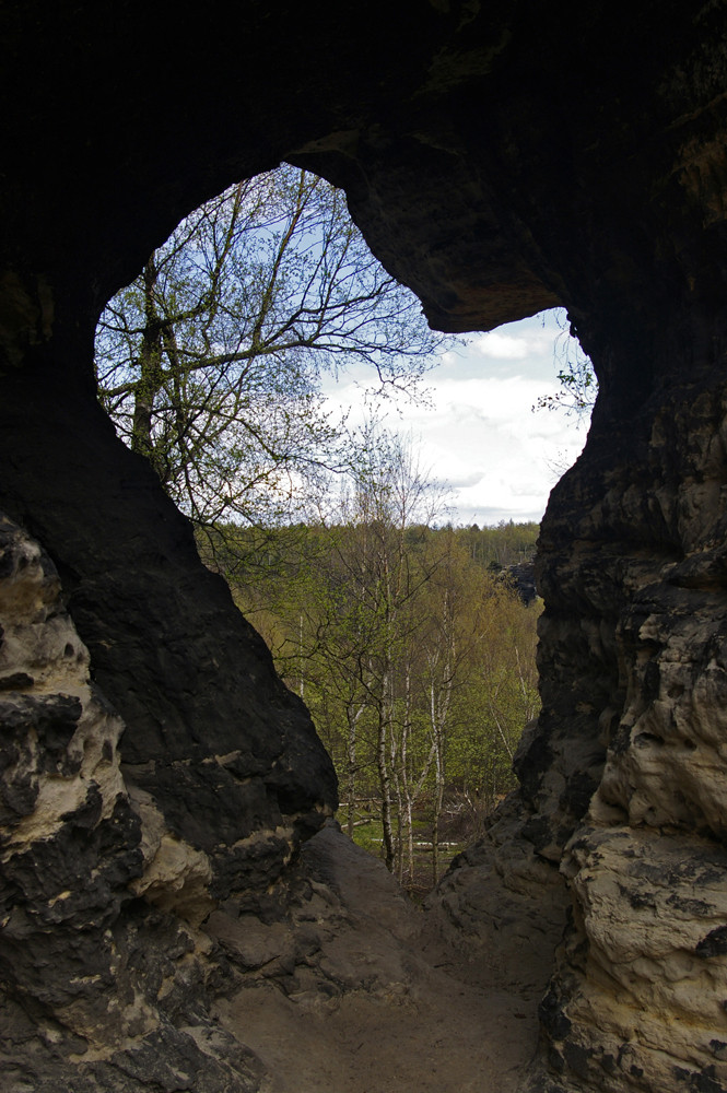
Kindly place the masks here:
<instances>
[{"instance_id":1,"label":"large sparsely leaved tree with spreading dark branches at opening's upper left","mask_svg":"<svg viewBox=\"0 0 727 1093\"><path fill-rule=\"evenodd\" d=\"M104 310L102 403L198 525L290 516L342 462L321 373L411 391L442 348L343 195L288 165L207 202Z\"/></svg>"}]
</instances>

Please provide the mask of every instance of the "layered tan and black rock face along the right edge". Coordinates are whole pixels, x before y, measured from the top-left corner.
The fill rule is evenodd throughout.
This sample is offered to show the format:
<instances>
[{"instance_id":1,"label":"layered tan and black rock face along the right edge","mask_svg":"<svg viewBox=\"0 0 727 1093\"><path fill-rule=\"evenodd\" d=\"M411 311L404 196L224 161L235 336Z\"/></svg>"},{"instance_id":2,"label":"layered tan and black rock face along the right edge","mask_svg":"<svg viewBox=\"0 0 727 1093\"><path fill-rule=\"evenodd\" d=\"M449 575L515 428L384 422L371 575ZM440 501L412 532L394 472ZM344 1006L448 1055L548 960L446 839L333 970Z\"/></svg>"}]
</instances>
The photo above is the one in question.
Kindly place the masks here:
<instances>
[{"instance_id":1,"label":"layered tan and black rock face along the right edge","mask_svg":"<svg viewBox=\"0 0 727 1093\"><path fill-rule=\"evenodd\" d=\"M588 494L585 461L551 502L560 516L551 528L561 543L567 528L575 542L544 578L562 581L562 590L549 589L554 609L543 654L551 668L560 661L561 678L581 666L587 685L583 669L597 658L606 669L601 686L610 680L600 693L572 687L579 754L568 762L565 733L552 728L556 717L567 722L547 707L552 731L546 740L536 736L532 754L521 760L540 822L551 818L538 833L549 857L561 859L567 813L578 814L568 783L590 781L585 815L561 859L573 922L542 1003L550 1061L564 1088L727 1084L720 352L714 386L704 369L654 399L630 438L632 459L605 475L586 515L566 507L574 493L581 503ZM598 428L597 422L594 444ZM576 595L577 625L558 610Z\"/></svg>"}]
</instances>

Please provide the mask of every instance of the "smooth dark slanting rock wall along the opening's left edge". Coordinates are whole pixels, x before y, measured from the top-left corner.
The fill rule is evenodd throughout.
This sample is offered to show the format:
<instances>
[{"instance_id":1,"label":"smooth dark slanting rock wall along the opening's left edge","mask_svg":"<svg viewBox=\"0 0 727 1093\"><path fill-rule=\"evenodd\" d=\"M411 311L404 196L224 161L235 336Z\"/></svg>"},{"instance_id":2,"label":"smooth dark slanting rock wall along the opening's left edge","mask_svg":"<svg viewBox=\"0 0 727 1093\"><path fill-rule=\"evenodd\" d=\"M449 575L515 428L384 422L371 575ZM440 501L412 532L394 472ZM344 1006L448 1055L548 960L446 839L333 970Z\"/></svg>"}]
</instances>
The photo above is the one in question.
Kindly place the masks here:
<instances>
[{"instance_id":1,"label":"smooth dark slanting rock wall along the opening's left edge","mask_svg":"<svg viewBox=\"0 0 727 1093\"><path fill-rule=\"evenodd\" d=\"M209 860L216 896L265 891L330 813L330 760L224 581L201 565L188 520L55 371L63 352L52 366L38 355L5 385L8 506L54 544L93 680L126 724L127 784ZM58 477L47 470L56 446Z\"/></svg>"}]
</instances>

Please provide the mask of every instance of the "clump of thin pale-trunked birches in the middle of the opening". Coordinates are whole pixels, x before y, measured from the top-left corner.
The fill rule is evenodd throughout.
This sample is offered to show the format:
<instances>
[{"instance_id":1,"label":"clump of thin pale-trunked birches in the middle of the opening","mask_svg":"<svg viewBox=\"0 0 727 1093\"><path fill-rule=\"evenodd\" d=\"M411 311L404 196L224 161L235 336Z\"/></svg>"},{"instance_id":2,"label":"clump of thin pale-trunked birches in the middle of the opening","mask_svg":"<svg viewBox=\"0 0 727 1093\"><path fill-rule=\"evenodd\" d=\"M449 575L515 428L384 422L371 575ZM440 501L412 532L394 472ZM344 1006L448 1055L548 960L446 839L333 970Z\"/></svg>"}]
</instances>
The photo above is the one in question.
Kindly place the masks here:
<instances>
[{"instance_id":1,"label":"clump of thin pale-trunked birches in the middle of the opening","mask_svg":"<svg viewBox=\"0 0 727 1093\"><path fill-rule=\"evenodd\" d=\"M289 685L304 687L333 756L350 834L365 778L379 801L385 861L401 874L412 803L433 760L412 724L413 674L417 606L439 563L420 536L442 496L400 437L371 426L352 446L348 489L332 497L320 530L308 529L325 536L328 554L298 584L301 596L288 592L279 603L288 639L273 653ZM247 590L245 608L255 596ZM270 620L265 630L274 640Z\"/></svg>"}]
</instances>

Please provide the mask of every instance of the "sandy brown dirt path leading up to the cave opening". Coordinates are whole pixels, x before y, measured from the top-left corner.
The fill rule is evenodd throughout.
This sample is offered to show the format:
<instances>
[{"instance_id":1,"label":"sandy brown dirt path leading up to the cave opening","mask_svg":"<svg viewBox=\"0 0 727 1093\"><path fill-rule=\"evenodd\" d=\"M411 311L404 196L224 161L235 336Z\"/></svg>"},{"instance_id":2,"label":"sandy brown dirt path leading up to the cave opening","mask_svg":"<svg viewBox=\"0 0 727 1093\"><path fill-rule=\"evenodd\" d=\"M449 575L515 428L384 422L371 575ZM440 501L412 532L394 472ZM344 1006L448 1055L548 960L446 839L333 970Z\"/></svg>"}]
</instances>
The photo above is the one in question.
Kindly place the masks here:
<instances>
[{"instance_id":1,"label":"sandy brown dirt path leading up to the cave opening","mask_svg":"<svg viewBox=\"0 0 727 1093\"><path fill-rule=\"evenodd\" d=\"M263 1063L266 1093L515 1093L542 994L527 954L518 974L456 943L345 836L313 842L297 928L316 931L318 950L219 1004Z\"/></svg>"}]
</instances>

